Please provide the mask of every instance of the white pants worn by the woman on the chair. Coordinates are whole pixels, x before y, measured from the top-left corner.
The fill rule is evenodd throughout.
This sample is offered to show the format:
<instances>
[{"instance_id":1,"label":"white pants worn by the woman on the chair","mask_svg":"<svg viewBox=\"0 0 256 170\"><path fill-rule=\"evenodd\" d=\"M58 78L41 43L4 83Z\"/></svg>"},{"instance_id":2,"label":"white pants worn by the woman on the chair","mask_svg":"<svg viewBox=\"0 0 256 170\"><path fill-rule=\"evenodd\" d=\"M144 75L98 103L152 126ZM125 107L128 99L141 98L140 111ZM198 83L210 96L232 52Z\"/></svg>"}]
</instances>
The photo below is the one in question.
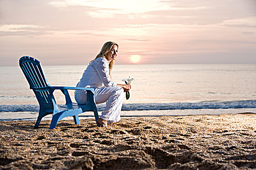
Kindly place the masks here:
<instances>
[{"instance_id":1,"label":"white pants worn by the woman on the chair","mask_svg":"<svg viewBox=\"0 0 256 170\"><path fill-rule=\"evenodd\" d=\"M107 102L105 110L101 113L100 118L109 122L118 122L120 120L121 108L123 103L123 88L119 86L102 87L94 89L96 104ZM79 104L86 104L86 91L77 93L75 99Z\"/></svg>"}]
</instances>

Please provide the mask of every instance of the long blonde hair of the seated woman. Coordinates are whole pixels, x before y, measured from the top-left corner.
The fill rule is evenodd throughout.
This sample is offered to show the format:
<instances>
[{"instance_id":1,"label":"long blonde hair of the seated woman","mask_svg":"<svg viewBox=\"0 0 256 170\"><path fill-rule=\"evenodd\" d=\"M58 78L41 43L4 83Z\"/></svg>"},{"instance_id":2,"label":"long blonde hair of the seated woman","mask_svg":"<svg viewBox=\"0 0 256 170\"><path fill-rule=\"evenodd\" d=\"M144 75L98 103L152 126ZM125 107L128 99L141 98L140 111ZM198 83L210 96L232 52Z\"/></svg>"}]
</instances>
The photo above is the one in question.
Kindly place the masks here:
<instances>
[{"instance_id":1,"label":"long blonde hair of the seated woman","mask_svg":"<svg viewBox=\"0 0 256 170\"><path fill-rule=\"evenodd\" d=\"M112 41L106 42L106 43L102 46L100 52L99 52L98 55L95 57L95 59L93 59L92 61L90 61L90 63L93 62L94 60L96 60L96 59L99 58L99 57L103 57L103 58L106 58L106 59L107 59L107 53L108 53L109 51L111 51L111 49L112 49L112 47L113 47L114 45L118 46L118 44L115 43L115 42L112 42ZM109 67L109 75L110 75L110 76L111 76L111 71L112 71L113 65L114 65L114 60L112 60L112 61L109 63L109 65L108 65L108 67Z\"/></svg>"}]
</instances>

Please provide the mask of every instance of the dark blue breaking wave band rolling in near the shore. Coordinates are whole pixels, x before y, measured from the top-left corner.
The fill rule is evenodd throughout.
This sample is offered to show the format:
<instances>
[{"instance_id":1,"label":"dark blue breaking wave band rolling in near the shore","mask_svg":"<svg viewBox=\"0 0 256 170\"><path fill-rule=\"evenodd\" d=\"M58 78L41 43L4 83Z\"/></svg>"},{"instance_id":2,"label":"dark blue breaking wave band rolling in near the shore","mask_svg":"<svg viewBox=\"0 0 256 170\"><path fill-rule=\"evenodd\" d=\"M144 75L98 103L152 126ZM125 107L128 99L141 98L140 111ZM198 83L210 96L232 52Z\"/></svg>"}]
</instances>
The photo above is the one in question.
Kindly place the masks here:
<instances>
[{"instance_id":1,"label":"dark blue breaking wave band rolling in near the shore","mask_svg":"<svg viewBox=\"0 0 256 170\"><path fill-rule=\"evenodd\" d=\"M61 105L60 105L61 106ZM104 110L106 104L97 104L98 111ZM173 102L173 103L126 103L123 111L130 110L183 110L183 109L239 109L256 108L256 100L233 102ZM0 105L0 112L38 112L37 104Z\"/></svg>"}]
</instances>

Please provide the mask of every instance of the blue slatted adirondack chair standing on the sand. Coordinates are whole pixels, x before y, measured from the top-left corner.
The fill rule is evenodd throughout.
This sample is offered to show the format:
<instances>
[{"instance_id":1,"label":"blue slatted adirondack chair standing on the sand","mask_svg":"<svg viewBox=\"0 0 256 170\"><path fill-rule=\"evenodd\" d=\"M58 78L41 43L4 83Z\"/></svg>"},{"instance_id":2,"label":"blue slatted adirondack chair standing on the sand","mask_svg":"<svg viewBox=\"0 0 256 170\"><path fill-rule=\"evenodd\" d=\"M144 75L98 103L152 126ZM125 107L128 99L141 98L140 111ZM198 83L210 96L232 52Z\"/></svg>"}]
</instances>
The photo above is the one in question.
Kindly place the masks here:
<instances>
[{"instance_id":1,"label":"blue slatted adirondack chair standing on the sand","mask_svg":"<svg viewBox=\"0 0 256 170\"><path fill-rule=\"evenodd\" d=\"M19 60L20 68L22 69L29 85L37 97L39 102L39 116L34 128L39 126L39 123L43 117L49 114L53 114L52 121L49 129L56 128L59 120L73 116L75 124L80 124L78 114L93 111L96 119L98 120L98 111L94 98L93 88L80 88L80 87L64 87L64 86L51 86L49 85L45 73L42 69L40 62L29 56L23 56ZM54 99L54 90L59 89L65 95L66 104L57 106ZM68 89L71 90L86 90L87 102L85 105L79 105L71 101ZM98 123L97 123L97 126Z\"/></svg>"}]
</instances>

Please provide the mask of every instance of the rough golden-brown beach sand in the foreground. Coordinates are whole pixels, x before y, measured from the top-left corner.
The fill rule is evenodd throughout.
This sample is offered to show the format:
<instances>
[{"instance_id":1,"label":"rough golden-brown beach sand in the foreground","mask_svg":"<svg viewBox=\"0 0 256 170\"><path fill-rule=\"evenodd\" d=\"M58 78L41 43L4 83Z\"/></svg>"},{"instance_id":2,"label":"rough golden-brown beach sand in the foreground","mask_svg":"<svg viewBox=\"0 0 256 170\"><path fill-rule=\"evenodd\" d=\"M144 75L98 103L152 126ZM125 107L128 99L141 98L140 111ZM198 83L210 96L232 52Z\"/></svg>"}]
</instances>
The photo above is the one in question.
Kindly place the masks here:
<instances>
[{"instance_id":1,"label":"rough golden-brown beach sand in the foreground","mask_svg":"<svg viewBox=\"0 0 256 170\"><path fill-rule=\"evenodd\" d=\"M256 169L256 114L0 121L0 170Z\"/></svg>"}]
</instances>

